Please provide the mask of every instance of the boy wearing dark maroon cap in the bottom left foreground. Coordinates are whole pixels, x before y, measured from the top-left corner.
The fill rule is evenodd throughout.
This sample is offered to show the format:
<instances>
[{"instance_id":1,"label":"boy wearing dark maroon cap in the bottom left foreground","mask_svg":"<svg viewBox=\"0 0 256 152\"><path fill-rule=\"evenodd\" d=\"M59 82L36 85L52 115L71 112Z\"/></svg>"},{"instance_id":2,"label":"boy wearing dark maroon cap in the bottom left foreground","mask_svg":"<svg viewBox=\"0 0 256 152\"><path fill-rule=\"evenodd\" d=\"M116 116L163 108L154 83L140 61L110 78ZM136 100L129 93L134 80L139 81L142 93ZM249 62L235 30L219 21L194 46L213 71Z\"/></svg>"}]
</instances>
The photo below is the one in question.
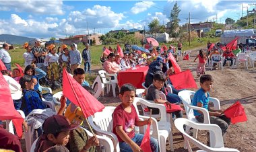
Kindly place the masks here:
<instances>
[{"instance_id":1,"label":"boy wearing dark maroon cap in the bottom left foreground","mask_svg":"<svg viewBox=\"0 0 256 152\"><path fill-rule=\"evenodd\" d=\"M44 134L38 138L34 151L51 151L53 149L61 149L69 151L65 145L69 142L69 130L77 128L77 125L70 124L65 116L53 115L47 118L42 124ZM88 151L94 145L98 145L96 136L90 138L81 152Z\"/></svg>"}]
</instances>

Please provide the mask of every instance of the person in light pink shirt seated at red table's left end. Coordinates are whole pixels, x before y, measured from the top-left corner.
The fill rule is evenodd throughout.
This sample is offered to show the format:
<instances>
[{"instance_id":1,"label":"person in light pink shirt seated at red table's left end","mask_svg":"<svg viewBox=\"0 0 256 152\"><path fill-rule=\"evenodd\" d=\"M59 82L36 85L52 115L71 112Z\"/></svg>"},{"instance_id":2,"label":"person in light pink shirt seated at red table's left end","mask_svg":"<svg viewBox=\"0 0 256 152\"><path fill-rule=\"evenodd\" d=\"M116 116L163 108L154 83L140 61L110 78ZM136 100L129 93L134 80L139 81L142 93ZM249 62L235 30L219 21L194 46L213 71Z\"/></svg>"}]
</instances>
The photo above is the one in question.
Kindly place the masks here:
<instances>
[{"instance_id":1,"label":"person in light pink shirt seated at red table's left end","mask_svg":"<svg viewBox=\"0 0 256 152\"><path fill-rule=\"evenodd\" d=\"M108 54L108 59L104 62L103 68L107 73L118 73L120 71L119 65L115 62L115 54Z\"/></svg>"}]
</instances>

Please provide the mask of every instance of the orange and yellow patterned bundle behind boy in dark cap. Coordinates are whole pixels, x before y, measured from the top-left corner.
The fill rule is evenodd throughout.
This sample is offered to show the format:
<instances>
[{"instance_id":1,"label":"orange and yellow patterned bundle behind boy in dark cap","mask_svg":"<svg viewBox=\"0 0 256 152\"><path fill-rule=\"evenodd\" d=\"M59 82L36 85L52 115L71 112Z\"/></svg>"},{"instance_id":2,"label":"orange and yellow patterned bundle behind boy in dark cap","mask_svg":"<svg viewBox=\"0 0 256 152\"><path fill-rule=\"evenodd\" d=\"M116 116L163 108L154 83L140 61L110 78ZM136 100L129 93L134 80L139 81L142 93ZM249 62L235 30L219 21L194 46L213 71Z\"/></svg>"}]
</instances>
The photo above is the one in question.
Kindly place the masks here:
<instances>
[{"instance_id":1,"label":"orange and yellow patterned bundle behind boy in dark cap","mask_svg":"<svg viewBox=\"0 0 256 152\"><path fill-rule=\"evenodd\" d=\"M74 110L72 110L75 108ZM69 104L65 111L64 116L71 122L71 124L81 125L84 122L84 114L80 107L75 106L75 104Z\"/></svg>"}]
</instances>

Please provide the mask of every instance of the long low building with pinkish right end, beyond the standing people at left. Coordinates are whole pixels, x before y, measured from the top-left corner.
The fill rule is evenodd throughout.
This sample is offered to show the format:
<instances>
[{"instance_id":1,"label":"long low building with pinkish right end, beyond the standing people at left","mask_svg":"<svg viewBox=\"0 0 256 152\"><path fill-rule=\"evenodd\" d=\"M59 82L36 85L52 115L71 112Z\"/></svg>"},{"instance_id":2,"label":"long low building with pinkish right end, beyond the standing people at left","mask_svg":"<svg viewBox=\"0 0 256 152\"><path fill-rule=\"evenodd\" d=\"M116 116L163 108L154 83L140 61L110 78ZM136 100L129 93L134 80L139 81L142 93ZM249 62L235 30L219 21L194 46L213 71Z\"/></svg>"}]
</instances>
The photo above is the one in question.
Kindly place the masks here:
<instances>
[{"instance_id":1,"label":"long low building with pinkish right end, beyond the standing people at left","mask_svg":"<svg viewBox=\"0 0 256 152\"><path fill-rule=\"evenodd\" d=\"M76 35L76 36L71 36L70 38L59 38L59 41L61 41L63 44L70 45L71 43L83 43L83 44L90 44L91 45L101 45L102 42L100 42L100 36L102 34L90 34L88 35Z\"/></svg>"}]
</instances>

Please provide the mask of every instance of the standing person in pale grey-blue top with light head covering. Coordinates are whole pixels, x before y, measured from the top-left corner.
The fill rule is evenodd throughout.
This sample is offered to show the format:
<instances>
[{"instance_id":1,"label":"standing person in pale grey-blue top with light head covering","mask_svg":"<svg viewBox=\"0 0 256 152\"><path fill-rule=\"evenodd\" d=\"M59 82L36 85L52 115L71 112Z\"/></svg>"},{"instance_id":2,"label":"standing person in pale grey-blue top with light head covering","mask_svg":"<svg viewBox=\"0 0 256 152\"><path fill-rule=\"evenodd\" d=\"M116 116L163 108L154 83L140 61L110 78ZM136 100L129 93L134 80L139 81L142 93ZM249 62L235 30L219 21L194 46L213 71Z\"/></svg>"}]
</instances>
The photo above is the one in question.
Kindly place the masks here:
<instances>
[{"instance_id":1,"label":"standing person in pale grey-blue top with light head covering","mask_svg":"<svg viewBox=\"0 0 256 152\"><path fill-rule=\"evenodd\" d=\"M69 51L70 56L70 65L71 65L71 74L73 75L73 71L80 67L82 63L82 56L79 50L77 50L77 44L70 44L71 50Z\"/></svg>"}]
</instances>

